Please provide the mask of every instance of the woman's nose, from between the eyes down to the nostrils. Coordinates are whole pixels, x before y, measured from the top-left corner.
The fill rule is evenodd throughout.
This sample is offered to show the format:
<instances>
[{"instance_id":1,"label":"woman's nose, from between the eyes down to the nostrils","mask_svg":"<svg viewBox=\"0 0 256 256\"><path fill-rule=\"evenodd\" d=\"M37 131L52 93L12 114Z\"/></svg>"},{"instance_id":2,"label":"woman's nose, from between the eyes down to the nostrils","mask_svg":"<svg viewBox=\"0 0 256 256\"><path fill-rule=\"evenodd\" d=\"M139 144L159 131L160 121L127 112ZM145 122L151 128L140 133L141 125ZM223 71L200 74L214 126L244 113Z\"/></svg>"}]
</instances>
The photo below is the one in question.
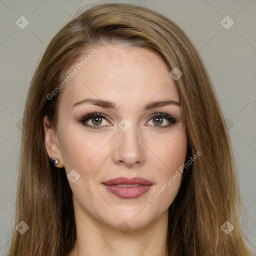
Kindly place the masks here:
<instances>
[{"instance_id":1,"label":"woman's nose, from between the eyes down to the nostrils","mask_svg":"<svg viewBox=\"0 0 256 256\"><path fill-rule=\"evenodd\" d=\"M117 129L114 136L113 161L117 164L123 164L127 167L140 166L145 161L145 144L142 134L131 125L126 131Z\"/></svg>"}]
</instances>

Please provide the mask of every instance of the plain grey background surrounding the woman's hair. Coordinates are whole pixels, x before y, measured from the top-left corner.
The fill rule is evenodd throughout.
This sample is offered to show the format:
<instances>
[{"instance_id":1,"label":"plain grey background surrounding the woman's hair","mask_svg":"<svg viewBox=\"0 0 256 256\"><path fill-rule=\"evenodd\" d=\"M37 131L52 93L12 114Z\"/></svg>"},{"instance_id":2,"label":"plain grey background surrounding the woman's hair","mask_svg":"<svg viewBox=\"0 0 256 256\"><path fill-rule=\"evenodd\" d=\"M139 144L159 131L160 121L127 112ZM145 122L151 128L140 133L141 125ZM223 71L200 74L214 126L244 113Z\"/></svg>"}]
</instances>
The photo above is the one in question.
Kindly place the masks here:
<instances>
[{"instance_id":1,"label":"plain grey background surrounding the woman's hair","mask_svg":"<svg viewBox=\"0 0 256 256\"><path fill-rule=\"evenodd\" d=\"M0 0L0 255L10 244L14 225L22 118L28 86L38 63L60 26L87 0ZM225 118L237 164L246 212L242 227L256 251L256 1L255 0L130 0L176 22L196 46L209 72ZM89 5L88 5L89 6ZM25 16L20 29L15 21ZM220 21L230 16L226 29ZM225 22L225 21L224 21ZM229 21L228 21L229 22ZM227 23L229 24L229 23ZM247 219L247 224L246 224Z\"/></svg>"}]
</instances>

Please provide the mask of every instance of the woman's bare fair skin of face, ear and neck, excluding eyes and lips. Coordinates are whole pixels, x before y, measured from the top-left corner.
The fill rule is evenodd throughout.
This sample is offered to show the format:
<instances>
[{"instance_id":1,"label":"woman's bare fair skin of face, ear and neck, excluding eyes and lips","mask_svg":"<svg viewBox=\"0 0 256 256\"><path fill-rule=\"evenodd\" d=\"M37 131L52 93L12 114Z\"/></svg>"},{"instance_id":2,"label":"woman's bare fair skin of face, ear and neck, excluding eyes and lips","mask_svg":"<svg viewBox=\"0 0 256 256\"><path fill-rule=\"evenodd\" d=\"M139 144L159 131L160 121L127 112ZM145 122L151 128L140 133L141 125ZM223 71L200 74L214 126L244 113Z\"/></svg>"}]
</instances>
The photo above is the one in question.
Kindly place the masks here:
<instances>
[{"instance_id":1,"label":"woman's bare fair skin of face, ear and neck, excluding eyes and lips","mask_svg":"<svg viewBox=\"0 0 256 256\"><path fill-rule=\"evenodd\" d=\"M49 157L57 156L60 162L56 166L64 166L66 174L74 169L80 175L74 183L68 179L77 232L69 256L163 256L168 207L182 175L154 201L149 196L184 163L187 138L179 105L142 108L154 101L180 102L178 90L170 70L156 53L116 44L97 49L96 56L63 88L56 127L47 116L43 119ZM112 101L116 108L88 102L72 107L84 98ZM106 115L86 121L100 128L77 121L86 111ZM159 112L173 116L177 122L171 124L165 116L149 119ZM123 118L131 124L126 131L118 126ZM139 197L120 198L102 184L120 176L142 177L153 185ZM130 229L124 233L122 227Z\"/></svg>"}]
</instances>

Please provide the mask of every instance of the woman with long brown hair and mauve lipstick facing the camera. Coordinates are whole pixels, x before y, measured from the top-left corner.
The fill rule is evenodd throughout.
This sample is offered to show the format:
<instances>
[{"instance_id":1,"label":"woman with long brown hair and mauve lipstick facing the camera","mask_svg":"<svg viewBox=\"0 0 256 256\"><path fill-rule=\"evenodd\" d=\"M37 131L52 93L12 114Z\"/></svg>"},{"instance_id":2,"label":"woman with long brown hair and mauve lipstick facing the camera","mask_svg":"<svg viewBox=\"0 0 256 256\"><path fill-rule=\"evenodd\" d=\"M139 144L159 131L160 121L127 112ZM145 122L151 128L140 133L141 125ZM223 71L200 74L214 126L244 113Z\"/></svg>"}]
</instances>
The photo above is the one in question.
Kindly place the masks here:
<instances>
[{"instance_id":1,"label":"woman with long brown hair and mauve lipstick facing the camera","mask_svg":"<svg viewBox=\"0 0 256 256\"><path fill-rule=\"evenodd\" d=\"M223 113L171 20L99 4L49 43L26 100L14 255L251 255Z\"/></svg>"}]
</instances>

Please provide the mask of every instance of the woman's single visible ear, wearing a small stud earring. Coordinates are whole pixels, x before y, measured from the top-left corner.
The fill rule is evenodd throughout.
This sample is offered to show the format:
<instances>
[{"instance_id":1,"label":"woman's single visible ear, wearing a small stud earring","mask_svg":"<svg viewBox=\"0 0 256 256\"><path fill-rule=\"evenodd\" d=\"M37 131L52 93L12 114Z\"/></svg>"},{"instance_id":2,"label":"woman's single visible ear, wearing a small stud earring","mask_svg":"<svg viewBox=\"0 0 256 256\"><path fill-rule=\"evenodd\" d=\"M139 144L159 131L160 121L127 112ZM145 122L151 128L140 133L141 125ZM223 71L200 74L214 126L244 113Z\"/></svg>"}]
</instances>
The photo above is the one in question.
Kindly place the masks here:
<instances>
[{"instance_id":1,"label":"woman's single visible ear, wearing a small stud earring","mask_svg":"<svg viewBox=\"0 0 256 256\"><path fill-rule=\"evenodd\" d=\"M44 144L47 151L48 156L51 157L58 157L59 163L55 164L56 167L62 168L63 165L63 158L59 149L58 137L56 134L55 127L50 124L50 120L48 116L45 115L43 117L43 128L44 128Z\"/></svg>"}]
</instances>

